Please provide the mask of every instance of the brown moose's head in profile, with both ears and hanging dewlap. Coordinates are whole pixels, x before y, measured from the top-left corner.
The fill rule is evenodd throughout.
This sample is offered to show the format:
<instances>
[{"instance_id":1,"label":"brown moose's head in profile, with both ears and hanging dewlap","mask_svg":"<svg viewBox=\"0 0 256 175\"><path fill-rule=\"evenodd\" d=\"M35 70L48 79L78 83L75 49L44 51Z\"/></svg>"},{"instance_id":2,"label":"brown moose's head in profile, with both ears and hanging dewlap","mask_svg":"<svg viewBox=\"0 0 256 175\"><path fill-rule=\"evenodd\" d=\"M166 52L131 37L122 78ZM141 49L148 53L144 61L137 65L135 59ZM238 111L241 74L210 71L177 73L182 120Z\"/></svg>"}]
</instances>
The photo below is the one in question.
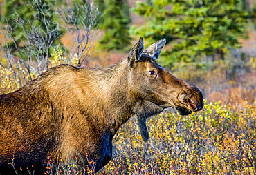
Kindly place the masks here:
<instances>
[{"instance_id":1,"label":"brown moose's head in profile, with both ears and hanging dewlap","mask_svg":"<svg viewBox=\"0 0 256 175\"><path fill-rule=\"evenodd\" d=\"M140 99L134 108L134 114L138 116L138 126L144 141L149 138L146 127L149 116L158 114L167 107L175 107L181 115L203 108L203 94L199 88L176 78L156 63L165 43L166 40L161 39L143 51L143 38L140 37L128 56L129 91L136 96L135 99Z\"/></svg>"}]
</instances>

